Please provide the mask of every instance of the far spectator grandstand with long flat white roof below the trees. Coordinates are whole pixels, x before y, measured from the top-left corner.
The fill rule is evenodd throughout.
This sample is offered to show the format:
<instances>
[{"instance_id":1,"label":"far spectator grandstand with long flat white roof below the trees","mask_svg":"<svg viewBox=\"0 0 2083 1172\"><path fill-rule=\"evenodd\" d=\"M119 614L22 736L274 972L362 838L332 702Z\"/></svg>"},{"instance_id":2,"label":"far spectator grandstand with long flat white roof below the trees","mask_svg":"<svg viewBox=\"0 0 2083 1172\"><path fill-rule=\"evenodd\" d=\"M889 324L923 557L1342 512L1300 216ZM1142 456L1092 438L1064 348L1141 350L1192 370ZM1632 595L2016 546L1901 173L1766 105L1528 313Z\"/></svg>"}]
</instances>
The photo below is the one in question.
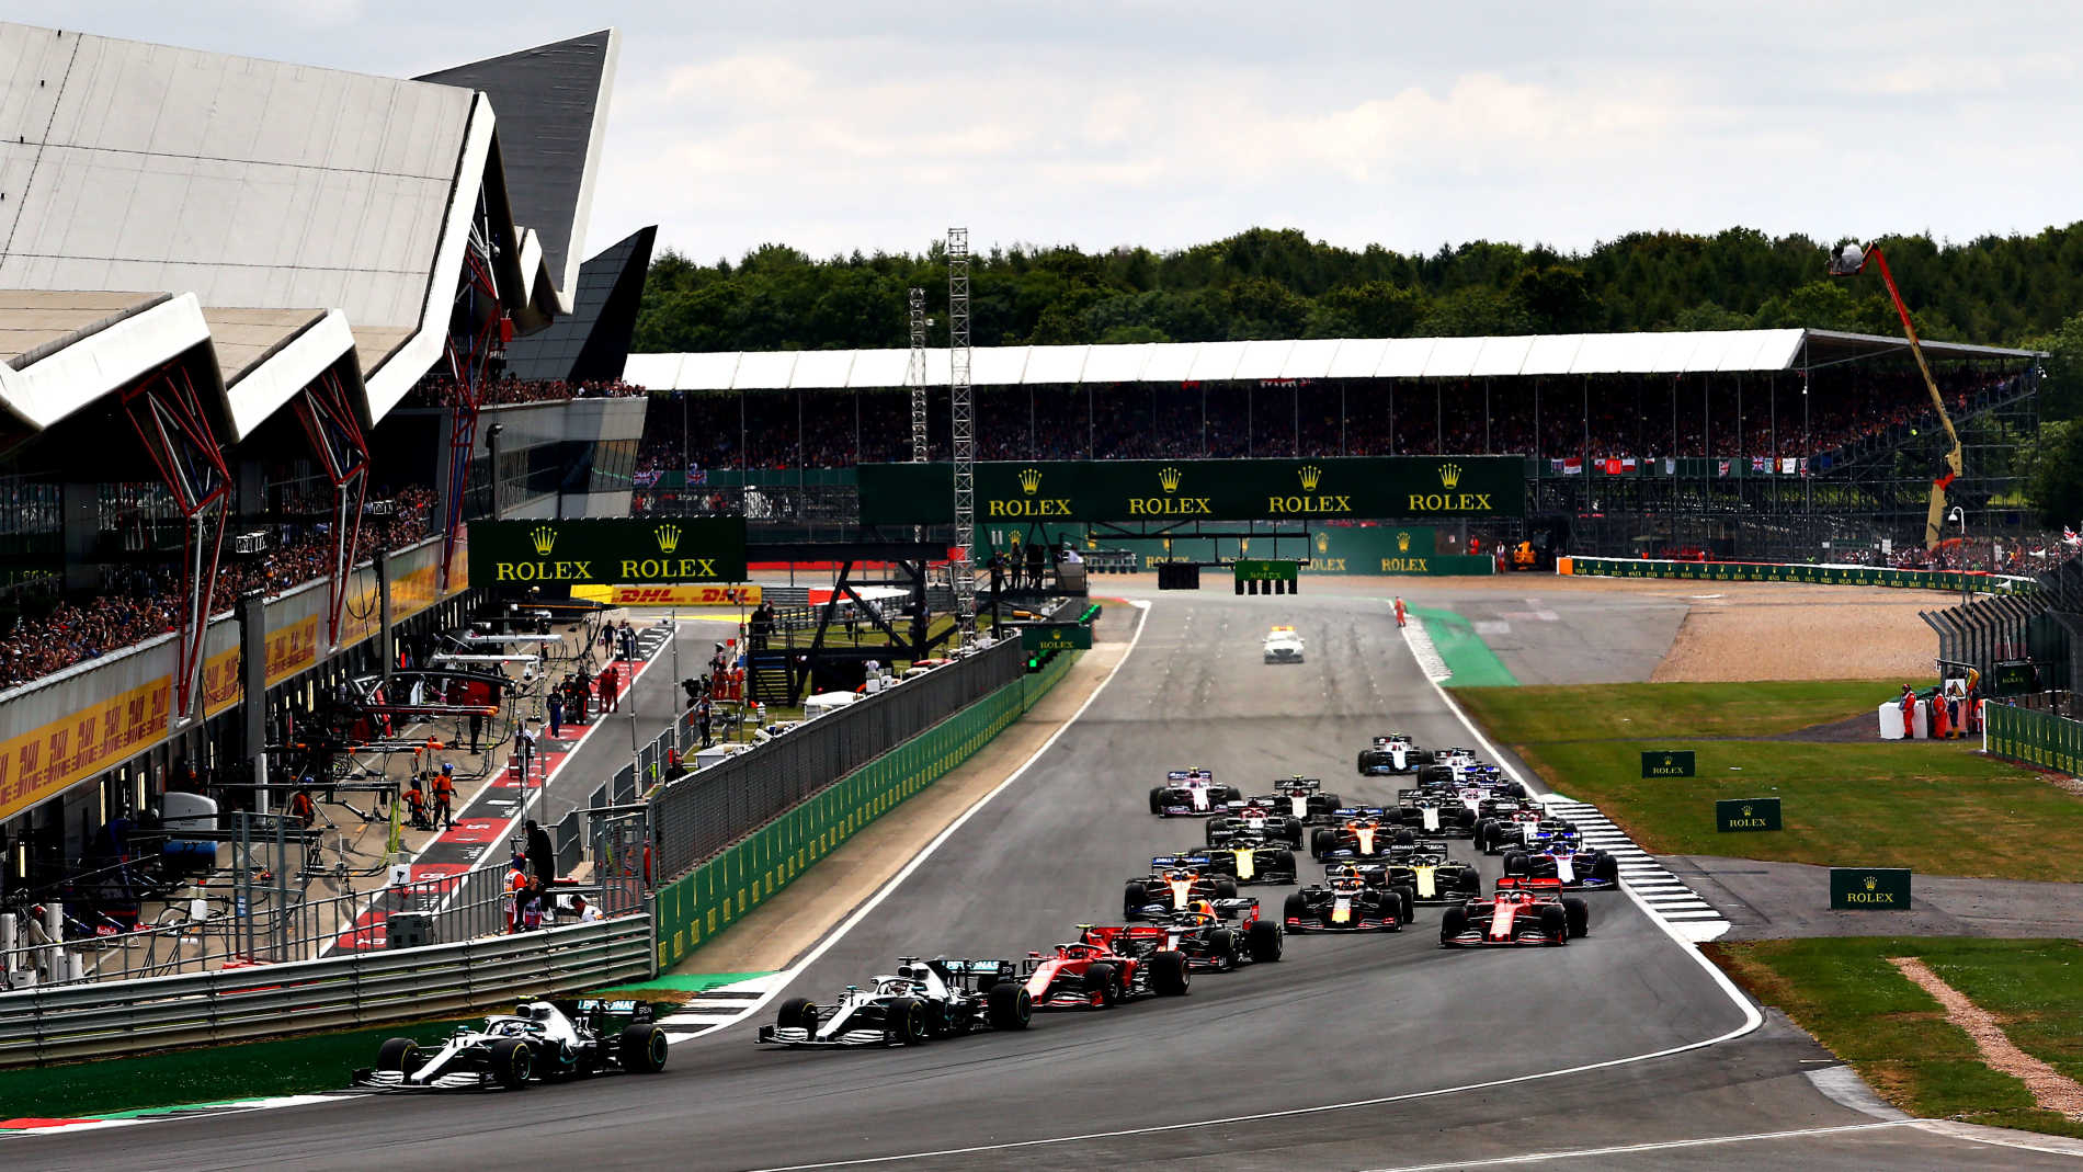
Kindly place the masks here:
<instances>
[{"instance_id":1,"label":"far spectator grandstand with long flat white roof below the trees","mask_svg":"<svg viewBox=\"0 0 2083 1172\"><path fill-rule=\"evenodd\" d=\"M1954 500L1981 535L2023 531L2043 356L1925 352L1966 445ZM652 391L637 508L752 491L754 514L844 523L852 464L910 458L908 356L631 354ZM927 364L946 458L946 350ZM1008 346L977 348L973 377L985 460L1523 454L1527 525L1564 523L1583 554L1908 547L1939 452L1906 343L1821 329Z\"/></svg>"}]
</instances>

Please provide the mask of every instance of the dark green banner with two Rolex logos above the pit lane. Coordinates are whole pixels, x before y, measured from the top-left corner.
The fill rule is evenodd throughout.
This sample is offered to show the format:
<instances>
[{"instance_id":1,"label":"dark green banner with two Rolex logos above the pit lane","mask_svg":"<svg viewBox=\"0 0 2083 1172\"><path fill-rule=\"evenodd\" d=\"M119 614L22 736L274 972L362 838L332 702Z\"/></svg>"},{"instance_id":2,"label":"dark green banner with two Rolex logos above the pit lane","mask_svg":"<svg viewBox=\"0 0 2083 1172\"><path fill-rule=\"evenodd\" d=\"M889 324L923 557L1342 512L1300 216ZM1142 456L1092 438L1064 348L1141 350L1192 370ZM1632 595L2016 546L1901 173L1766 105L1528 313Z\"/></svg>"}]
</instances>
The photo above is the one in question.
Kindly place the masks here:
<instances>
[{"instance_id":1,"label":"dark green banner with two Rolex logos above the pit lane","mask_svg":"<svg viewBox=\"0 0 2083 1172\"><path fill-rule=\"evenodd\" d=\"M746 579L744 516L473 520L471 585L702 585Z\"/></svg>"}]
</instances>

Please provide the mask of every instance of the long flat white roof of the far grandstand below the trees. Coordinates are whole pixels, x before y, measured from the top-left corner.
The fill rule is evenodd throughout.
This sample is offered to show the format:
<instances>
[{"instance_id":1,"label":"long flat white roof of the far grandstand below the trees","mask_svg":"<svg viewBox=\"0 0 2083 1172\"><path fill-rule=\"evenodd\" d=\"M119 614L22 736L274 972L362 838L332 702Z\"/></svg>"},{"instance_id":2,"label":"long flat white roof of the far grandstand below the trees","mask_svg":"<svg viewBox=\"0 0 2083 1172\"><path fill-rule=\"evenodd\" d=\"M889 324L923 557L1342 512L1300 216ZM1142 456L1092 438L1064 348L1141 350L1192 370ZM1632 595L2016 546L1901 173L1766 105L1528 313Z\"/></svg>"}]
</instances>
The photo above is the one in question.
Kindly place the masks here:
<instances>
[{"instance_id":1,"label":"long flat white roof of the far grandstand below the trees","mask_svg":"<svg viewBox=\"0 0 2083 1172\"><path fill-rule=\"evenodd\" d=\"M1064 383L1183 383L1225 379L1512 379L1531 375L1706 375L1793 371L1802 341L1829 356L1902 350L1900 337L1821 329L1677 333L1537 333L1510 337L1310 337L1269 341L1148 341L1137 346L979 346L979 387ZM1935 358L2031 358L1927 341ZM948 381L948 352L927 350L927 385ZM1821 360L1810 354L1810 362ZM902 387L908 350L779 350L631 354L623 381L654 391L767 391Z\"/></svg>"}]
</instances>

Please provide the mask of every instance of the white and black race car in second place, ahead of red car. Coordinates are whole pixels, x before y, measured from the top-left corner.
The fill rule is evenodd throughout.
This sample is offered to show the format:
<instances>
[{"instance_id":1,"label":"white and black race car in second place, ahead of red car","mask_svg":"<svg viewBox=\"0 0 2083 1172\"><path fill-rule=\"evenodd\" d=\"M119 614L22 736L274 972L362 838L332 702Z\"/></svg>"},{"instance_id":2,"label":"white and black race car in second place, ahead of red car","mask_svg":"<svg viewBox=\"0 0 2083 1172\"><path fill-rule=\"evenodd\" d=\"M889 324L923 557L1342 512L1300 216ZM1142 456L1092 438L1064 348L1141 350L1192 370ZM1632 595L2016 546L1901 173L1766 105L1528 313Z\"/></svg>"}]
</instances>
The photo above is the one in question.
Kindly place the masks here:
<instances>
[{"instance_id":1,"label":"white and black race car in second place, ahead of red car","mask_svg":"<svg viewBox=\"0 0 2083 1172\"><path fill-rule=\"evenodd\" d=\"M1025 1030L1033 997L1010 960L898 958L898 970L867 989L848 985L819 1008L808 997L781 1001L775 1024L756 1045L919 1045L977 1028Z\"/></svg>"}]
</instances>

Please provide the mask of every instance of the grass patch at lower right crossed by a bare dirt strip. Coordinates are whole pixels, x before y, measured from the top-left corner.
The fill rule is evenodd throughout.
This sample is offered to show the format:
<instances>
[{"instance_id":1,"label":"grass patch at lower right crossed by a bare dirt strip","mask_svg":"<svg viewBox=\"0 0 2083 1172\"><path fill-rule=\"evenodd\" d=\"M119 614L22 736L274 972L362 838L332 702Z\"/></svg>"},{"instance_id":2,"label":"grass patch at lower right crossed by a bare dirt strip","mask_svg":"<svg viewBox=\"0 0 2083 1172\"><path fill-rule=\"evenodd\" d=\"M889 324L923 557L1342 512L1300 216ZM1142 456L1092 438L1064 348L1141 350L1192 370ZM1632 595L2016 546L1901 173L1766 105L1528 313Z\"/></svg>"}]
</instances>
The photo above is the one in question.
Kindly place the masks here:
<instances>
[{"instance_id":1,"label":"grass patch at lower right crossed by a bare dirt strip","mask_svg":"<svg viewBox=\"0 0 2083 1172\"><path fill-rule=\"evenodd\" d=\"M2035 1107L2025 1082L1985 1066L1946 1010L1887 964L1896 956L1923 958L1948 985L2004 1018L2018 1049L2077 1078L2079 941L1833 937L1710 943L1706 951L1904 1112L2083 1137L2083 1124Z\"/></svg>"}]
</instances>

